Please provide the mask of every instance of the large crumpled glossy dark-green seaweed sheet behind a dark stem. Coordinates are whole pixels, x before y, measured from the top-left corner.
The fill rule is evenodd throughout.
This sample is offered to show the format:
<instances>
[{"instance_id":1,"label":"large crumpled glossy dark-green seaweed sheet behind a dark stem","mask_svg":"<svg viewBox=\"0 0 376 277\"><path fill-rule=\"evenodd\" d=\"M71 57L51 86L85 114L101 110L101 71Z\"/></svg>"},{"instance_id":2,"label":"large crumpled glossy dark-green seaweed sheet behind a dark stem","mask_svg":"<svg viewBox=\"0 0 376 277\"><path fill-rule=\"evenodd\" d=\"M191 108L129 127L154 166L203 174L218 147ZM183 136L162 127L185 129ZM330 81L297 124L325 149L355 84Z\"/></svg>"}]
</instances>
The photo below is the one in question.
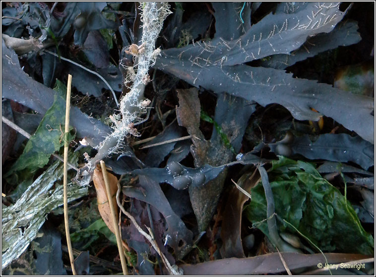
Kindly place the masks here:
<instances>
[{"instance_id":1,"label":"large crumpled glossy dark-green seaweed sheet behind a dark stem","mask_svg":"<svg viewBox=\"0 0 376 277\"><path fill-rule=\"evenodd\" d=\"M279 231L293 224L322 251L374 253L374 239L360 224L351 204L310 163L279 156L269 172ZM248 219L268 235L266 200L259 183L251 190L251 204L245 208ZM289 232L295 233L293 228Z\"/></svg>"}]
</instances>

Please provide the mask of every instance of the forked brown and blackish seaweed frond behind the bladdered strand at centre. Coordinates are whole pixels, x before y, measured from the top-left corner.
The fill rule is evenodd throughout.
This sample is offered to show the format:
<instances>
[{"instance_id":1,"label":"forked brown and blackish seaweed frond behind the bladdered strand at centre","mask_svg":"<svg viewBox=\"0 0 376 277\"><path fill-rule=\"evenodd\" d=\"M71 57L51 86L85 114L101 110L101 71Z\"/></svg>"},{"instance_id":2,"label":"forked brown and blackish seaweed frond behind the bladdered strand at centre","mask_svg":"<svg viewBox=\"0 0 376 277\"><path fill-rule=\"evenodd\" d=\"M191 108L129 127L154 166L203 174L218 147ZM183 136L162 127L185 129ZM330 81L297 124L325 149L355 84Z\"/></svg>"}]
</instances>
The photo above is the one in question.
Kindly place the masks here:
<instances>
[{"instance_id":1,"label":"forked brown and blackish seaweed frond behind the bladdered strand at centre","mask_svg":"<svg viewBox=\"0 0 376 277\"><path fill-rule=\"evenodd\" d=\"M242 146L242 138L248 119L254 111L250 102L240 97L234 97L227 93L220 93L217 99L214 121L221 130L221 134L214 128L210 140L205 140L199 130L200 102L196 88L177 90L179 107L177 118L180 125L187 128L192 136L193 145L191 152L195 166L211 164L219 166L230 162L234 153ZM227 143L223 142L223 136ZM228 147L230 145L231 147ZM226 173L222 172L214 180L204 186L189 187L189 196L192 208L197 218L199 230L206 229L216 210L219 196L226 179Z\"/></svg>"}]
</instances>

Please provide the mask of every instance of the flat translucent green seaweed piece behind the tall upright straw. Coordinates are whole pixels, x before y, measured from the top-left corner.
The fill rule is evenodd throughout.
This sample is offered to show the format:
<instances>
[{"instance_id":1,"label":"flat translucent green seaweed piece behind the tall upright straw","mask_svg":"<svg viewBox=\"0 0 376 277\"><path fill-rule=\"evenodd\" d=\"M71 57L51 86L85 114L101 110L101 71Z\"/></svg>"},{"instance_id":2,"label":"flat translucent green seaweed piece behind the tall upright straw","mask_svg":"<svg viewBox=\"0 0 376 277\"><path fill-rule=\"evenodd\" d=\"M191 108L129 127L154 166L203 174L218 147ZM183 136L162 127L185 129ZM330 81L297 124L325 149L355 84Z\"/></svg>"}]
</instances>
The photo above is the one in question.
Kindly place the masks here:
<instances>
[{"instance_id":1,"label":"flat translucent green seaweed piece behind the tall upright straw","mask_svg":"<svg viewBox=\"0 0 376 277\"><path fill-rule=\"evenodd\" d=\"M53 105L44 115L37 131L28 140L23 153L7 172L6 176L25 168L35 171L45 166L51 154L59 150L63 145L62 130L64 130L63 123L65 120L65 105L63 103L65 101L61 101L61 98L65 89L63 84L57 81L57 85L54 88L57 95L55 95ZM64 136L64 138L72 139L69 136Z\"/></svg>"}]
</instances>

